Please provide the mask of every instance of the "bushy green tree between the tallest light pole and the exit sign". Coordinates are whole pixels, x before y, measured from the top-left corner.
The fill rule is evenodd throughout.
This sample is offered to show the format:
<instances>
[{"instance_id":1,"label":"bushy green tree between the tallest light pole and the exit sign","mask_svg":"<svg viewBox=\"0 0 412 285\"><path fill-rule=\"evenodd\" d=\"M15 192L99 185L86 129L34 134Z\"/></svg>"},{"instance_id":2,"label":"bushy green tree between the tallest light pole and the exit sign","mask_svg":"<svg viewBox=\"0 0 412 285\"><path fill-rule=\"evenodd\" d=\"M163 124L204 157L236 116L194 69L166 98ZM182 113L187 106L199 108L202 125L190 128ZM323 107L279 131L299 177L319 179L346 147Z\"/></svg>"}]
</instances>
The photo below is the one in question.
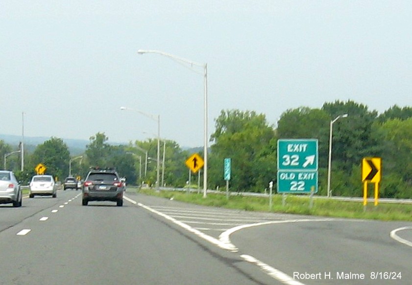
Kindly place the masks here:
<instances>
[{"instance_id":1,"label":"bushy green tree between the tallest light pole and the exit sign","mask_svg":"<svg viewBox=\"0 0 412 285\"><path fill-rule=\"evenodd\" d=\"M232 159L231 189L236 191L262 191L261 185L268 181L260 181L265 177L271 177L272 170L276 167L276 161L269 162L274 167L268 167L264 156L271 153L264 152L275 132L269 126L264 114L256 114L254 111L226 110L221 111L216 119L216 131L211 139L215 142L211 147L210 185L224 185L223 160ZM263 173L257 173L260 161L265 160L266 169ZM220 175L218 175L220 174ZM263 186L261 186L263 187Z\"/></svg>"}]
</instances>

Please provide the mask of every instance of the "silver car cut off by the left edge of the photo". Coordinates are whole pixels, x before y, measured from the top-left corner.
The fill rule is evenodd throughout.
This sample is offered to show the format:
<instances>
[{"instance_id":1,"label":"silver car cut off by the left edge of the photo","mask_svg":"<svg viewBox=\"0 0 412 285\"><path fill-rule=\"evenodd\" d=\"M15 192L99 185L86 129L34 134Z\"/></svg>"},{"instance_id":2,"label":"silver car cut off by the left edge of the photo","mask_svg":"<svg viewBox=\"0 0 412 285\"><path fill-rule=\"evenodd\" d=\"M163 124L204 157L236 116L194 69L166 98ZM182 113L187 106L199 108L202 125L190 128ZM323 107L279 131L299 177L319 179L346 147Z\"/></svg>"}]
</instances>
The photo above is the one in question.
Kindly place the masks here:
<instances>
[{"instance_id":1,"label":"silver car cut off by the left edge of the photo","mask_svg":"<svg viewBox=\"0 0 412 285\"><path fill-rule=\"evenodd\" d=\"M13 203L13 207L22 206L22 190L16 176L11 171L0 171L0 204Z\"/></svg>"}]
</instances>

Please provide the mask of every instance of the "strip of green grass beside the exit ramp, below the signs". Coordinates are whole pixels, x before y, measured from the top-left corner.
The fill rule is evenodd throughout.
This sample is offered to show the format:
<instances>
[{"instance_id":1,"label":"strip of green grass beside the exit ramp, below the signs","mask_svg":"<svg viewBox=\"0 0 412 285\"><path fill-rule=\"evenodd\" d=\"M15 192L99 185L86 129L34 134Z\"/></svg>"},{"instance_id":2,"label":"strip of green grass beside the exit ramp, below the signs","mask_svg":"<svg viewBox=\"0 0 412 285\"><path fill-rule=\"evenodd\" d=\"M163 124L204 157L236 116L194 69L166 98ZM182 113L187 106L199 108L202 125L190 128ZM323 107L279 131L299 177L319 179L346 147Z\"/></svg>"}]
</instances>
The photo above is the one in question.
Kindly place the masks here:
<instances>
[{"instance_id":1,"label":"strip of green grass beside the exit ramp, below the signs","mask_svg":"<svg viewBox=\"0 0 412 285\"><path fill-rule=\"evenodd\" d=\"M287 196L286 203L283 205L282 195L273 195L272 207L269 209L269 199L267 197L245 197L237 195L227 199L224 194L209 193L206 198L203 198L202 193L188 194L177 191L156 192L154 189L141 189L139 193L169 199L173 197L174 200L186 203L245 211L314 215L334 218L412 221L412 205L409 204L380 203L378 206L374 206L373 203L370 203L365 210L362 202L316 198L313 199L313 205L310 207L309 197Z\"/></svg>"}]
</instances>

